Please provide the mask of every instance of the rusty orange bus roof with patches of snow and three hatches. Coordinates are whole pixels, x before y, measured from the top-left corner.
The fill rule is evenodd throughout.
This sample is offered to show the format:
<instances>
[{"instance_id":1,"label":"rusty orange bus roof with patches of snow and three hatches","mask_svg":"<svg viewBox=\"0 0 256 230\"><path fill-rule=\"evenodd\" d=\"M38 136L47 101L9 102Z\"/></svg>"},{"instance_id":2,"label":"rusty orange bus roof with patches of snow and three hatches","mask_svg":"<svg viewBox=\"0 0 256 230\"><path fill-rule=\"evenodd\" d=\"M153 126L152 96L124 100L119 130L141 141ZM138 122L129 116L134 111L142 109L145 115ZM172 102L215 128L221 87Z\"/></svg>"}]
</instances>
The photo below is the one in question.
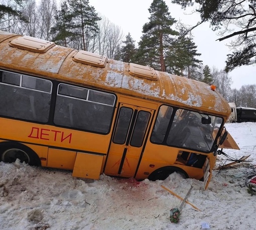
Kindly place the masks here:
<instances>
[{"instance_id":1,"label":"rusty orange bus roof with patches of snow and three hatches","mask_svg":"<svg viewBox=\"0 0 256 230\"><path fill-rule=\"evenodd\" d=\"M15 42L19 37L27 38L27 43L25 42L27 47ZM224 117L228 117L231 112L227 101L206 83L155 71L146 66L142 66L143 73L136 74L136 70L133 69L140 70L141 65L107 59L103 56L100 60L102 63L99 61L97 65L93 64L93 60L87 62L86 58L80 61L79 55L85 52L38 38L34 39L0 30L0 68L93 86L158 102L165 101L167 104L194 108ZM35 44L30 45L31 42ZM100 55L92 54L92 59L97 56Z\"/></svg>"}]
</instances>

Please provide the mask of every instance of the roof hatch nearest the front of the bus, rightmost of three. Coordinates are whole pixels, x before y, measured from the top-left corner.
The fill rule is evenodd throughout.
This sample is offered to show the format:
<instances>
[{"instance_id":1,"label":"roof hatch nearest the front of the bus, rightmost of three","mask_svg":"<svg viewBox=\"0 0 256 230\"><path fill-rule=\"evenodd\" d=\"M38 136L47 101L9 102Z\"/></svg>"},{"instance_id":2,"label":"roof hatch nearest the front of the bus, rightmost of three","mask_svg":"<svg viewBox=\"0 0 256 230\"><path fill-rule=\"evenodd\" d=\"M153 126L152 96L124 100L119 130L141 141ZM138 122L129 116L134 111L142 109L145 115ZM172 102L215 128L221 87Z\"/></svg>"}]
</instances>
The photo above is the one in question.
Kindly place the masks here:
<instances>
[{"instance_id":1,"label":"roof hatch nearest the front of the bus, rightmost of three","mask_svg":"<svg viewBox=\"0 0 256 230\"><path fill-rule=\"evenodd\" d=\"M130 63L129 72L133 76L138 76L138 77L142 77L150 80L157 80L156 70L149 66Z\"/></svg>"}]
</instances>

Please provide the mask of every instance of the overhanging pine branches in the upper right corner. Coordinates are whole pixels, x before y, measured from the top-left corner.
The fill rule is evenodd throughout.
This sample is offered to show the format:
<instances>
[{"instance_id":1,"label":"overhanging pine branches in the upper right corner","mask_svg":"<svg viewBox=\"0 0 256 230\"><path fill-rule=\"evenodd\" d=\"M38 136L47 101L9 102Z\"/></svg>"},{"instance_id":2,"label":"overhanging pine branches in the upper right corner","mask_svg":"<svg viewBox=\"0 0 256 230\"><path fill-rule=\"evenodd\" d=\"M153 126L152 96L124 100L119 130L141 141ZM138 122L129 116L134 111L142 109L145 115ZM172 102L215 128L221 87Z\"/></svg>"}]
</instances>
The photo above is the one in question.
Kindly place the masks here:
<instances>
[{"instance_id":1,"label":"overhanging pine branches in the upper right corner","mask_svg":"<svg viewBox=\"0 0 256 230\"><path fill-rule=\"evenodd\" d=\"M229 47L232 53L227 55L226 71L241 65L256 63L256 1L255 0L171 0L182 8L191 6L193 13L198 12L201 20L191 26L187 32L203 22L219 30L219 41L233 38ZM233 31L234 30L234 31Z\"/></svg>"}]
</instances>

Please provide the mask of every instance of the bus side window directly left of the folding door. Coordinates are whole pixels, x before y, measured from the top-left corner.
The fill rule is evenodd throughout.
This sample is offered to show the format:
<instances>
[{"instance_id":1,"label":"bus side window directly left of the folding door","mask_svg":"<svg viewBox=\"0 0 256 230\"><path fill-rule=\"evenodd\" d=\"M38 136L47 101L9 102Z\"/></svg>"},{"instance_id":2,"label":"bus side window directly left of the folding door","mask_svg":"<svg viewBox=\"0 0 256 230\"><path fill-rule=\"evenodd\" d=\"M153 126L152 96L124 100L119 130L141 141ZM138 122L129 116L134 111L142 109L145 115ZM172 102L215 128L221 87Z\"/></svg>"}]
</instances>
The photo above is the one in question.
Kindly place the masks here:
<instances>
[{"instance_id":1,"label":"bus side window directly left of the folding door","mask_svg":"<svg viewBox=\"0 0 256 230\"><path fill-rule=\"evenodd\" d=\"M112 120L115 96L106 92L59 84L54 123L93 132L107 133ZM98 101L90 94L101 95ZM104 95L108 99L104 101Z\"/></svg>"}]
</instances>

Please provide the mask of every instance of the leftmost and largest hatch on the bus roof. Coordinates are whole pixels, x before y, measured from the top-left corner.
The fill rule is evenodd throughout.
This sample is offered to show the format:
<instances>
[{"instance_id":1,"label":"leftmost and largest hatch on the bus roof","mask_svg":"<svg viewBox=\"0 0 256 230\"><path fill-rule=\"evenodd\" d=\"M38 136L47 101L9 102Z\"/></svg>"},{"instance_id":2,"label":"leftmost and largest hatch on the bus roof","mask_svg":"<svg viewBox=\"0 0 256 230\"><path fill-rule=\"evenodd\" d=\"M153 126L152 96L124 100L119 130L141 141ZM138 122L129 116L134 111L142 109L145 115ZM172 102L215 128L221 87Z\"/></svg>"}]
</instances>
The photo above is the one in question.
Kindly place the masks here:
<instances>
[{"instance_id":1,"label":"leftmost and largest hatch on the bus roof","mask_svg":"<svg viewBox=\"0 0 256 230\"><path fill-rule=\"evenodd\" d=\"M46 52L48 49L55 45L54 42L31 36L20 36L13 39L9 44L17 48L22 48L34 52Z\"/></svg>"}]
</instances>

